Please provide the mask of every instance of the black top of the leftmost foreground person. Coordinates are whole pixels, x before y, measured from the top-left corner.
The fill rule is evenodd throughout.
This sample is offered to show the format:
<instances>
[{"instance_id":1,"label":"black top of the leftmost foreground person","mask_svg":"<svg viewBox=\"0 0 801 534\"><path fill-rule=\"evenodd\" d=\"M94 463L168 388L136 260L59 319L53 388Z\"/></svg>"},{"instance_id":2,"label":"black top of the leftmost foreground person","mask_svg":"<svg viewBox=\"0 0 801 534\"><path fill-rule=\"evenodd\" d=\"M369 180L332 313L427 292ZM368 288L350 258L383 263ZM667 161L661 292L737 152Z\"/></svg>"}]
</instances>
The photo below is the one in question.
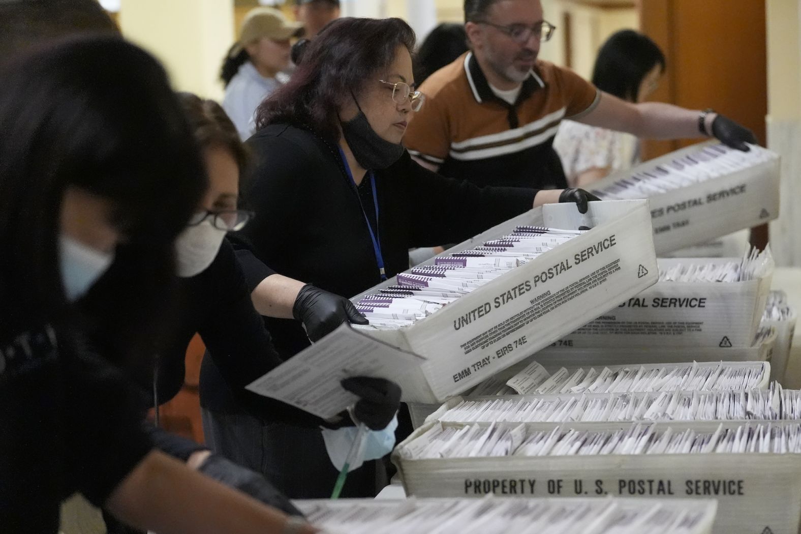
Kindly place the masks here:
<instances>
[{"instance_id":1,"label":"black top of the leftmost foreground person","mask_svg":"<svg viewBox=\"0 0 801 534\"><path fill-rule=\"evenodd\" d=\"M0 344L0 530L58 532L59 504L101 506L152 444L134 387L50 327Z\"/></svg>"}]
</instances>

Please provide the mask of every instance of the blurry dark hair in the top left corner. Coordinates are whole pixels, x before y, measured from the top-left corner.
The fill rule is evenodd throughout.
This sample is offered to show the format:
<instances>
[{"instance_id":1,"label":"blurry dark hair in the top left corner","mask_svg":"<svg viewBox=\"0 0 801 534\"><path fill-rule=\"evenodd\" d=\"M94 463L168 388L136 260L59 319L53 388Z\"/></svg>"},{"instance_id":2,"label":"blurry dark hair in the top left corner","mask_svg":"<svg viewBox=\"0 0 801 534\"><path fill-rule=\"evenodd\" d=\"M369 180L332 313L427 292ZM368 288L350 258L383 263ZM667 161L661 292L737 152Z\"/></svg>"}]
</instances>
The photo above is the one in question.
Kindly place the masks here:
<instances>
[{"instance_id":1,"label":"blurry dark hair in the top left corner","mask_svg":"<svg viewBox=\"0 0 801 534\"><path fill-rule=\"evenodd\" d=\"M0 2L0 62L31 45L73 34L119 34L97 0Z\"/></svg>"}]
</instances>

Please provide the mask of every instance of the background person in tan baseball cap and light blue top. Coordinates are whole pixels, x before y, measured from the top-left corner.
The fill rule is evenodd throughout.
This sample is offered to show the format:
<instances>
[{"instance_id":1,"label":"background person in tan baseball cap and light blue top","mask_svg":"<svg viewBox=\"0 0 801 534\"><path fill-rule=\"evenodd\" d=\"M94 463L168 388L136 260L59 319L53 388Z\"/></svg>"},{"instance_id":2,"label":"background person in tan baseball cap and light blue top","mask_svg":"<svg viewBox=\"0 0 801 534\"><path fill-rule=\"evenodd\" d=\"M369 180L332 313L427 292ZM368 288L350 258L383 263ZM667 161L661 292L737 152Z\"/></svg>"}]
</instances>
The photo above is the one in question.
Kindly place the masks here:
<instances>
[{"instance_id":1,"label":"background person in tan baseball cap and light blue top","mask_svg":"<svg viewBox=\"0 0 801 534\"><path fill-rule=\"evenodd\" d=\"M253 132L253 112L262 100L287 82L290 39L303 30L280 10L256 7L245 15L239 40L223 60L223 108L246 140Z\"/></svg>"}]
</instances>

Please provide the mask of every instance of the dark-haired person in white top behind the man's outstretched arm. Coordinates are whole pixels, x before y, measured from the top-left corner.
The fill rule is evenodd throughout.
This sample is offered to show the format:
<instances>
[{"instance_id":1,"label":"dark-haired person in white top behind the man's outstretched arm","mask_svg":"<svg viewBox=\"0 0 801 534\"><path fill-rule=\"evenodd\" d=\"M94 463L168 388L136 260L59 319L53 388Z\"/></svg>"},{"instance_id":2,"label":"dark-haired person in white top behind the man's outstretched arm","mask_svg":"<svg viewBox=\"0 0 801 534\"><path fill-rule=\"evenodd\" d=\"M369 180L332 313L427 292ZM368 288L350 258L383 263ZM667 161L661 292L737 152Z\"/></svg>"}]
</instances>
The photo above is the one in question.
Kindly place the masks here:
<instances>
[{"instance_id":1,"label":"dark-haired person in white top behind the man's outstretched arm","mask_svg":"<svg viewBox=\"0 0 801 534\"><path fill-rule=\"evenodd\" d=\"M599 91L640 103L656 90L665 67L665 55L654 41L634 30L620 30L598 51L592 82ZM640 161L635 136L572 120L559 125L553 148L572 187L591 184Z\"/></svg>"}]
</instances>

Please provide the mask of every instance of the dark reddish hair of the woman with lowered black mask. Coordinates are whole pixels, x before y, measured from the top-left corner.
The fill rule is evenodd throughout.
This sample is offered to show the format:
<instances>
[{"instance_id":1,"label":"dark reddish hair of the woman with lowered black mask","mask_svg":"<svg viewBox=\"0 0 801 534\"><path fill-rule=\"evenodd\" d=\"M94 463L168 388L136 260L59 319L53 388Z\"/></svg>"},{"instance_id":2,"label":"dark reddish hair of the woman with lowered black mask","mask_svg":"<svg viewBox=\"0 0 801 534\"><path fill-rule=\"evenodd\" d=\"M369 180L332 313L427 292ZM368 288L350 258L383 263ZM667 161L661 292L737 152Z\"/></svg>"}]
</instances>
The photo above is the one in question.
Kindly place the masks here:
<instances>
[{"instance_id":1,"label":"dark reddish hair of the woman with lowered black mask","mask_svg":"<svg viewBox=\"0 0 801 534\"><path fill-rule=\"evenodd\" d=\"M294 123L339 140L340 107L395 60L397 47L414 49L414 30L400 18L338 18L305 42L289 82L256 110L256 127Z\"/></svg>"}]
</instances>

